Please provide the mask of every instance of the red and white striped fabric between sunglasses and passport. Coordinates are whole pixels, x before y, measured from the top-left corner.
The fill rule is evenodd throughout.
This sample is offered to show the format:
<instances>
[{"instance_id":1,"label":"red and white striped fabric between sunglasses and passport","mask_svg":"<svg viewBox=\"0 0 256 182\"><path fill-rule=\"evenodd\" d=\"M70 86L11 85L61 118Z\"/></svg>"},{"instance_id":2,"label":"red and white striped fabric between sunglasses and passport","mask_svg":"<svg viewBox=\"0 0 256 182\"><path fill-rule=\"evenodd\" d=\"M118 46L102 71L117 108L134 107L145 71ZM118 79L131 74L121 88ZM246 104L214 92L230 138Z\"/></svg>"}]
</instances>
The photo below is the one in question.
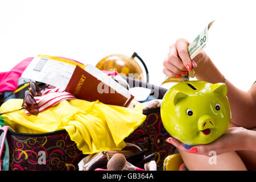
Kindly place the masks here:
<instances>
[{"instance_id":1,"label":"red and white striped fabric between sunglasses and passport","mask_svg":"<svg viewBox=\"0 0 256 182\"><path fill-rule=\"evenodd\" d=\"M59 104L59 102L63 100L76 99L76 97L71 93L65 92L65 90L59 88L54 88L52 86L48 86L48 88L43 89L41 93L42 96L34 97L36 103L38 104L39 113L40 111L46 110L51 106ZM30 113L25 109L25 114Z\"/></svg>"}]
</instances>

